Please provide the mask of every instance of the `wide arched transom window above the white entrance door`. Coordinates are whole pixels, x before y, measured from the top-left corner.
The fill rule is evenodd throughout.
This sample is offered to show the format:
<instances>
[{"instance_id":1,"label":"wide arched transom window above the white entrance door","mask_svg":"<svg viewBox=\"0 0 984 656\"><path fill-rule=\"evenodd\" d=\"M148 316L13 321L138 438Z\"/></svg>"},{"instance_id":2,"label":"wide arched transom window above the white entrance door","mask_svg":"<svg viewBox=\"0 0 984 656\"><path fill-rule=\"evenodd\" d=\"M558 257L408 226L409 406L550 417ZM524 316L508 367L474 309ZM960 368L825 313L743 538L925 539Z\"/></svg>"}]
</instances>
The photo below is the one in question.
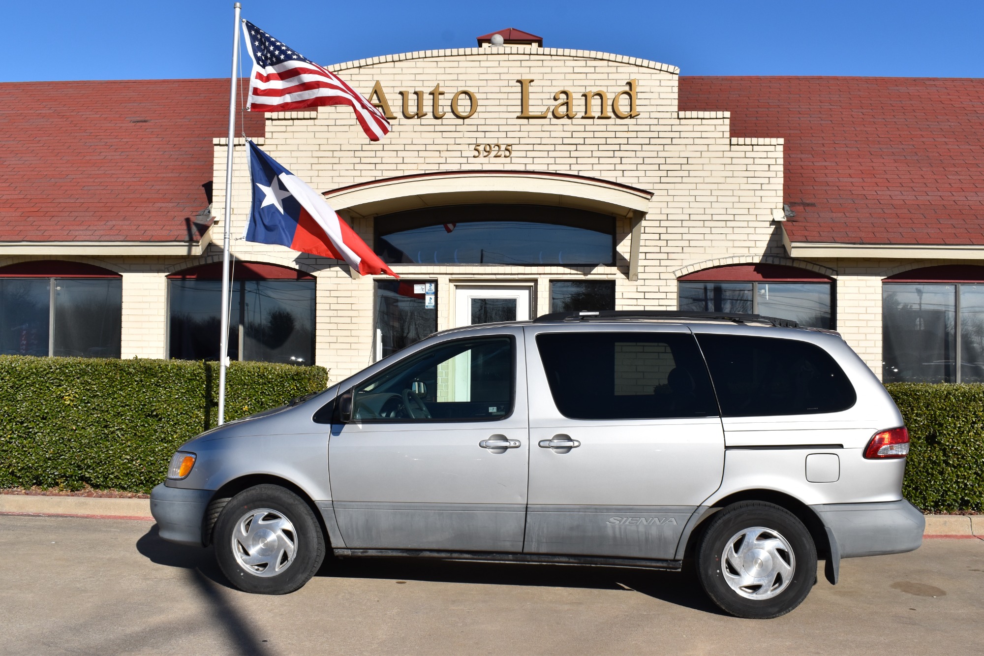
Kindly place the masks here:
<instances>
[{"instance_id":1,"label":"wide arched transom window above the white entrance door","mask_svg":"<svg viewBox=\"0 0 984 656\"><path fill-rule=\"evenodd\" d=\"M597 265L614 262L615 220L535 205L461 205L377 217L388 263Z\"/></svg>"}]
</instances>

